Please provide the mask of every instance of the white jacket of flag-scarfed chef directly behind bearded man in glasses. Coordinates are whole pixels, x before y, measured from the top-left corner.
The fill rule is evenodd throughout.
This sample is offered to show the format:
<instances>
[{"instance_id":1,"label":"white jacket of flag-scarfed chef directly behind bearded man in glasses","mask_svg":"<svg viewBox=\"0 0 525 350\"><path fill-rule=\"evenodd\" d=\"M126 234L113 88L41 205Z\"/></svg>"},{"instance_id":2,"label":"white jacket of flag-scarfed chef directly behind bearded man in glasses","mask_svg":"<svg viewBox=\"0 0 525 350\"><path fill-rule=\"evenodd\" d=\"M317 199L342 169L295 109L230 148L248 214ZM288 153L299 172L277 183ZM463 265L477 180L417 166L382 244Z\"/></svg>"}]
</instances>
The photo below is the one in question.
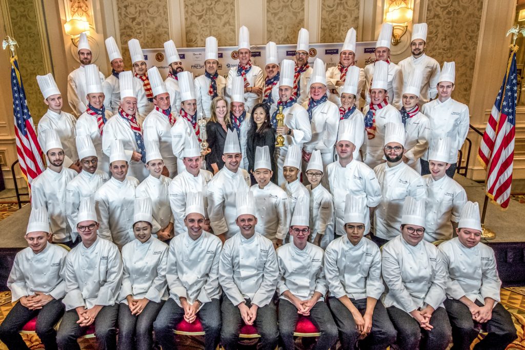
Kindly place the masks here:
<instances>
[{"instance_id":1,"label":"white jacket of flag-scarfed chef directly behind bearded man in glasses","mask_svg":"<svg viewBox=\"0 0 525 350\"><path fill-rule=\"evenodd\" d=\"M369 109L370 103L364 107L363 115L366 115ZM363 162L372 169L384 162L386 123L402 123L400 111L390 103L375 111L375 137L373 139L364 137Z\"/></svg>"}]
</instances>

